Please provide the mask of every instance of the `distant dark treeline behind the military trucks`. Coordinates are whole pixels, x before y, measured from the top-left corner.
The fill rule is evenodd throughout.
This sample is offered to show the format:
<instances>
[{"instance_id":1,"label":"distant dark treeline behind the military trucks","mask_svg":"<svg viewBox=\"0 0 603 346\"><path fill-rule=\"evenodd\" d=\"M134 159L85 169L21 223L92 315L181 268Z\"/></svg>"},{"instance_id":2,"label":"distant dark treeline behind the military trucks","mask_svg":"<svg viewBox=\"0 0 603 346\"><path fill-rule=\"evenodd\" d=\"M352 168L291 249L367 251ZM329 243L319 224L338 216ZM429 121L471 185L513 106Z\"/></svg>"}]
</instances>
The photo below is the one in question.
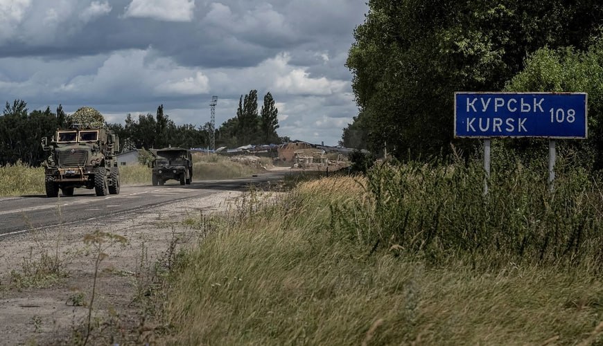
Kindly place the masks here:
<instances>
[{"instance_id":1,"label":"distant dark treeline behind the military trucks","mask_svg":"<svg viewBox=\"0 0 603 346\"><path fill-rule=\"evenodd\" d=\"M247 144L282 143L288 138L279 138L277 134L278 109L272 94L266 93L261 111L258 112L257 91L251 90L241 95L236 116L220 125L215 131L216 147L238 147ZM71 125L69 115L62 106L51 111L28 111L24 100L15 100L6 106L0 115L0 165L17 161L28 165L40 165L48 153L42 150L40 140L51 137L56 129ZM127 151L134 148L162 147L204 147L211 144L211 122L202 126L192 124L176 125L163 104L157 107L157 113L139 114L137 118L128 114L125 124L107 123L105 126L119 135L120 148Z\"/></svg>"}]
</instances>

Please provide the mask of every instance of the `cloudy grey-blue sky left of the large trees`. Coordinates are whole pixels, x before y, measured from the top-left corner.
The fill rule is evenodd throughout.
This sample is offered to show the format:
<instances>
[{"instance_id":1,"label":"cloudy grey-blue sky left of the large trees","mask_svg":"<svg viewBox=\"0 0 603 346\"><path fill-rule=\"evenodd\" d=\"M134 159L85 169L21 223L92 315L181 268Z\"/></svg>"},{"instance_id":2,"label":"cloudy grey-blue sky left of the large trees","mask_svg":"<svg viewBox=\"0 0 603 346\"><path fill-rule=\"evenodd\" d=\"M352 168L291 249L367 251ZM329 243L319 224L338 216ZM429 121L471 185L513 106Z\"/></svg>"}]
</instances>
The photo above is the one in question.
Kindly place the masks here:
<instances>
[{"instance_id":1,"label":"cloudy grey-blue sky left of the large trees","mask_svg":"<svg viewBox=\"0 0 603 346\"><path fill-rule=\"evenodd\" d=\"M366 0L0 0L0 95L108 122L236 116L270 91L280 136L336 145L358 109L344 64Z\"/></svg>"}]
</instances>

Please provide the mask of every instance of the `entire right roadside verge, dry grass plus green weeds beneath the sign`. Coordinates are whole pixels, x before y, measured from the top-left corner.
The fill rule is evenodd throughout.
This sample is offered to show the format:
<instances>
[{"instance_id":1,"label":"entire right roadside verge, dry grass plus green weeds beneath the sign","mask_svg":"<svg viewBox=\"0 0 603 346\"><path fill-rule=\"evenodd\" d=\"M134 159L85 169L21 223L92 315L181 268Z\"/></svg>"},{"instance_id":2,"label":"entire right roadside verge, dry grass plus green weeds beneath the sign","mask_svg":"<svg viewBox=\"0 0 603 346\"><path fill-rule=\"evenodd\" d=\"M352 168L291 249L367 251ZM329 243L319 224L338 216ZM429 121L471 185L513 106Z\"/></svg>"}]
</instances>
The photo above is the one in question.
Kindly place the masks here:
<instances>
[{"instance_id":1,"label":"entire right roadside verge, dry grass plus green weeds beneath the sign","mask_svg":"<svg viewBox=\"0 0 603 346\"><path fill-rule=\"evenodd\" d=\"M478 165L385 164L275 203L250 192L197 223L213 232L180 255L162 340L601 345L602 192L571 171L551 193L541 175L498 167L484 197Z\"/></svg>"}]
</instances>

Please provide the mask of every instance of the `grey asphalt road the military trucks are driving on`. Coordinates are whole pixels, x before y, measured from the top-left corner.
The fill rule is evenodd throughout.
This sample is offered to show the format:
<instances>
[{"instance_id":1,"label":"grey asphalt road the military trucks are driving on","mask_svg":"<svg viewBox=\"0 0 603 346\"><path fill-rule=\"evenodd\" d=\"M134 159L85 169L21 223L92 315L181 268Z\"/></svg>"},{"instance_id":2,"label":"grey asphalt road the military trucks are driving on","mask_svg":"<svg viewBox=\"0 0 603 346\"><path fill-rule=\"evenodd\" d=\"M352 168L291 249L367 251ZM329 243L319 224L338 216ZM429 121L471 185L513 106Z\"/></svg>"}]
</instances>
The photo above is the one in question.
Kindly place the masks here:
<instances>
[{"instance_id":1,"label":"grey asphalt road the military trucks are driving on","mask_svg":"<svg viewBox=\"0 0 603 346\"><path fill-rule=\"evenodd\" d=\"M243 191L254 185L274 186L286 172L269 172L244 179L193 181L180 185L121 187L119 194L97 197L94 190L76 189L73 197L46 198L44 194L0 198L0 242L10 235L149 209L191 198L209 197L216 191Z\"/></svg>"}]
</instances>

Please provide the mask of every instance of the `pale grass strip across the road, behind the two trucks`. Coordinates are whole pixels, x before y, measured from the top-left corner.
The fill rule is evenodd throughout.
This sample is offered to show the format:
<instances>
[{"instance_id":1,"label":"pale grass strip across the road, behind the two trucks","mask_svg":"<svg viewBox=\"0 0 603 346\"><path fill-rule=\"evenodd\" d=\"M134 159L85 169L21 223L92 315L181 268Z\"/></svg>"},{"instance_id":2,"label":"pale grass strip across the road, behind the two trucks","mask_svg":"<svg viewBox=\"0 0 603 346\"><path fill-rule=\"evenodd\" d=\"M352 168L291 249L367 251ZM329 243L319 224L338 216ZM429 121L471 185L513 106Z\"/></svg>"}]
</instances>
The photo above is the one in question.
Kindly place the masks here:
<instances>
[{"instance_id":1,"label":"pale grass strip across the road, behind the two trucks","mask_svg":"<svg viewBox=\"0 0 603 346\"><path fill-rule=\"evenodd\" d=\"M193 181L234 179L263 170L270 159L263 158L258 164L232 161L225 156L193 155ZM151 169L144 165L119 167L121 185L150 185ZM0 166L0 197L44 194L44 168L30 167L23 163Z\"/></svg>"}]
</instances>

